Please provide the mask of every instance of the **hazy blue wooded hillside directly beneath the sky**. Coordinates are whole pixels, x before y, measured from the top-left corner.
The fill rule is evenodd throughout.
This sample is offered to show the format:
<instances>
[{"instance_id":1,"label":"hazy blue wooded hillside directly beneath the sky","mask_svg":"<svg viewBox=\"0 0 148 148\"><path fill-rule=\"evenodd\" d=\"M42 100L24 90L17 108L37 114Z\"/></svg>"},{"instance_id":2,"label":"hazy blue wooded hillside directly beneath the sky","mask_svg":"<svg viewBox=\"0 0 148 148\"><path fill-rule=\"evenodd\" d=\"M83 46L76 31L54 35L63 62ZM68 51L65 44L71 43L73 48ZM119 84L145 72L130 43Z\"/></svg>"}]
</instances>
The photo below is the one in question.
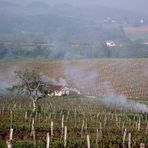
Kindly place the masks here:
<instances>
[{"instance_id":1,"label":"hazy blue wooded hillside directly beneath the sky","mask_svg":"<svg viewBox=\"0 0 148 148\"><path fill-rule=\"evenodd\" d=\"M3 1L0 1L0 5L1 3ZM14 8L9 3L7 5L7 2L5 4L5 7L0 7L0 41L40 38L47 42L64 44L94 44L107 39L127 40L122 29L125 18L140 18L128 11L101 6L88 8L61 4L51 7L38 1ZM109 22L105 23L108 18Z\"/></svg>"}]
</instances>

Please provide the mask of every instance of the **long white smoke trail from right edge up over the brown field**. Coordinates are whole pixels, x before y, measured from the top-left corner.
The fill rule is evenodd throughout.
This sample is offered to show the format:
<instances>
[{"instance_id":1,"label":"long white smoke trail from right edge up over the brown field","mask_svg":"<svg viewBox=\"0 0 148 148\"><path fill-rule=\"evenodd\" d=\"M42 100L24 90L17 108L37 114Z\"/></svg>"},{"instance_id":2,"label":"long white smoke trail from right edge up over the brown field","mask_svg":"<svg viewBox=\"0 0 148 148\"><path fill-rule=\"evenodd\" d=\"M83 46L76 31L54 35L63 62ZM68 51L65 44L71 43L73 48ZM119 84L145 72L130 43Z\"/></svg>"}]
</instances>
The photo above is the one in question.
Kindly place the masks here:
<instances>
[{"instance_id":1,"label":"long white smoke trail from right edge up over the brown field","mask_svg":"<svg viewBox=\"0 0 148 148\"><path fill-rule=\"evenodd\" d=\"M96 97L102 95L100 92L103 90L104 97L98 97L98 101L105 106L148 113L148 107L145 104L129 100L127 96L122 94L119 95L110 82L104 81L98 85L97 79L99 79L100 75L96 71L91 70L89 63L82 62L79 65L65 64L64 71L66 80L72 82L81 93Z\"/></svg>"}]
</instances>

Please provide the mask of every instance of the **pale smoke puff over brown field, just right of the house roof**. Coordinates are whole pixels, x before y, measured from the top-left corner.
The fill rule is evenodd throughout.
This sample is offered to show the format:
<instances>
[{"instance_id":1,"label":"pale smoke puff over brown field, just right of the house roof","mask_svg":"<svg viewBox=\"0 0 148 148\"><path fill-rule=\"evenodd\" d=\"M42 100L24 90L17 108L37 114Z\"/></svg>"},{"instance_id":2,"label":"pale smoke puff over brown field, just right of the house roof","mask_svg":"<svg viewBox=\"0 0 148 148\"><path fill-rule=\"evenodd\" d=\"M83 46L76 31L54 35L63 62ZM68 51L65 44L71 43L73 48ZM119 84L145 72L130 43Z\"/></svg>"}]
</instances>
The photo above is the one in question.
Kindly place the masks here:
<instances>
[{"instance_id":1,"label":"pale smoke puff over brown field, just right of the house roof","mask_svg":"<svg viewBox=\"0 0 148 148\"><path fill-rule=\"evenodd\" d=\"M66 65L64 68L66 80L75 85L81 92L89 93L91 88L95 88L98 75L95 71L89 70L89 66L85 64Z\"/></svg>"}]
</instances>

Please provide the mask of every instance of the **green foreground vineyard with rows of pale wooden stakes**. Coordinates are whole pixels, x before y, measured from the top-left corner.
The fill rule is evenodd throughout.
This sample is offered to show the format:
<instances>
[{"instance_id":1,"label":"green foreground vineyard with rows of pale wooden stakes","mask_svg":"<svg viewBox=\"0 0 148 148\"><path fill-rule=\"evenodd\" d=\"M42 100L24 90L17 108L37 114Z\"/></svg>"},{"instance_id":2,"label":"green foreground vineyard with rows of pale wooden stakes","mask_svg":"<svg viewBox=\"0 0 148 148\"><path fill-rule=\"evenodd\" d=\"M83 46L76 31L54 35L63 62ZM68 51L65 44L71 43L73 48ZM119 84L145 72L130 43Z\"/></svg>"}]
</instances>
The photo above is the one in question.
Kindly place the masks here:
<instances>
[{"instance_id":1,"label":"green foreground vineyard with rows of pale wooden stakes","mask_svg":"<svg viewBox=\"0 0 148 148\"><path fill-rule=\"evenodd\" d=\"M147 101L145 101L148 104ZM46 98L35 116L38 147L148 147L146 113L105 107L85 96ZM13 129L13 135L10 134ZM0 99L0 147L31 147L31 104L25 98ZM10 136L11 135L11 136Z\"/></svg>"}]
</instances>

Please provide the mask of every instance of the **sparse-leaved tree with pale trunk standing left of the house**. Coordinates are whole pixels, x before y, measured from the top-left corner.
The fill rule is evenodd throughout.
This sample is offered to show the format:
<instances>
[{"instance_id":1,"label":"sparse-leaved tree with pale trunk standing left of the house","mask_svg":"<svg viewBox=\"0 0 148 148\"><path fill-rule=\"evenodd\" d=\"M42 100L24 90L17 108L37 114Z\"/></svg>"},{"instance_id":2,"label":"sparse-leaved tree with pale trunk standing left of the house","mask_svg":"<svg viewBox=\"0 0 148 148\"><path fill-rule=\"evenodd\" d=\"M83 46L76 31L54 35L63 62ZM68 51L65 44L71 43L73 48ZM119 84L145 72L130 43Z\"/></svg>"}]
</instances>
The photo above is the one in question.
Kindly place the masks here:
<instances>
[{"instance_id":1,"label":"sparse-leaved tree with pale trunk standing left of the house","mask_svg":"<svg viewBox=\"0 0 148 148\"><path fill-rule=\"evenodd\" d=\"M18 94L27 95L32 101L32 126L31 135L33 136L33 144L36 146L36 135L35 135L35 115L37 102L46 97L48 94L49 81L45 80L44 75L40 72L39 68L33 70L16 71L16 77L18 83L8 88L9 91L15 91Z\"/></svg>"}]
</instances>

